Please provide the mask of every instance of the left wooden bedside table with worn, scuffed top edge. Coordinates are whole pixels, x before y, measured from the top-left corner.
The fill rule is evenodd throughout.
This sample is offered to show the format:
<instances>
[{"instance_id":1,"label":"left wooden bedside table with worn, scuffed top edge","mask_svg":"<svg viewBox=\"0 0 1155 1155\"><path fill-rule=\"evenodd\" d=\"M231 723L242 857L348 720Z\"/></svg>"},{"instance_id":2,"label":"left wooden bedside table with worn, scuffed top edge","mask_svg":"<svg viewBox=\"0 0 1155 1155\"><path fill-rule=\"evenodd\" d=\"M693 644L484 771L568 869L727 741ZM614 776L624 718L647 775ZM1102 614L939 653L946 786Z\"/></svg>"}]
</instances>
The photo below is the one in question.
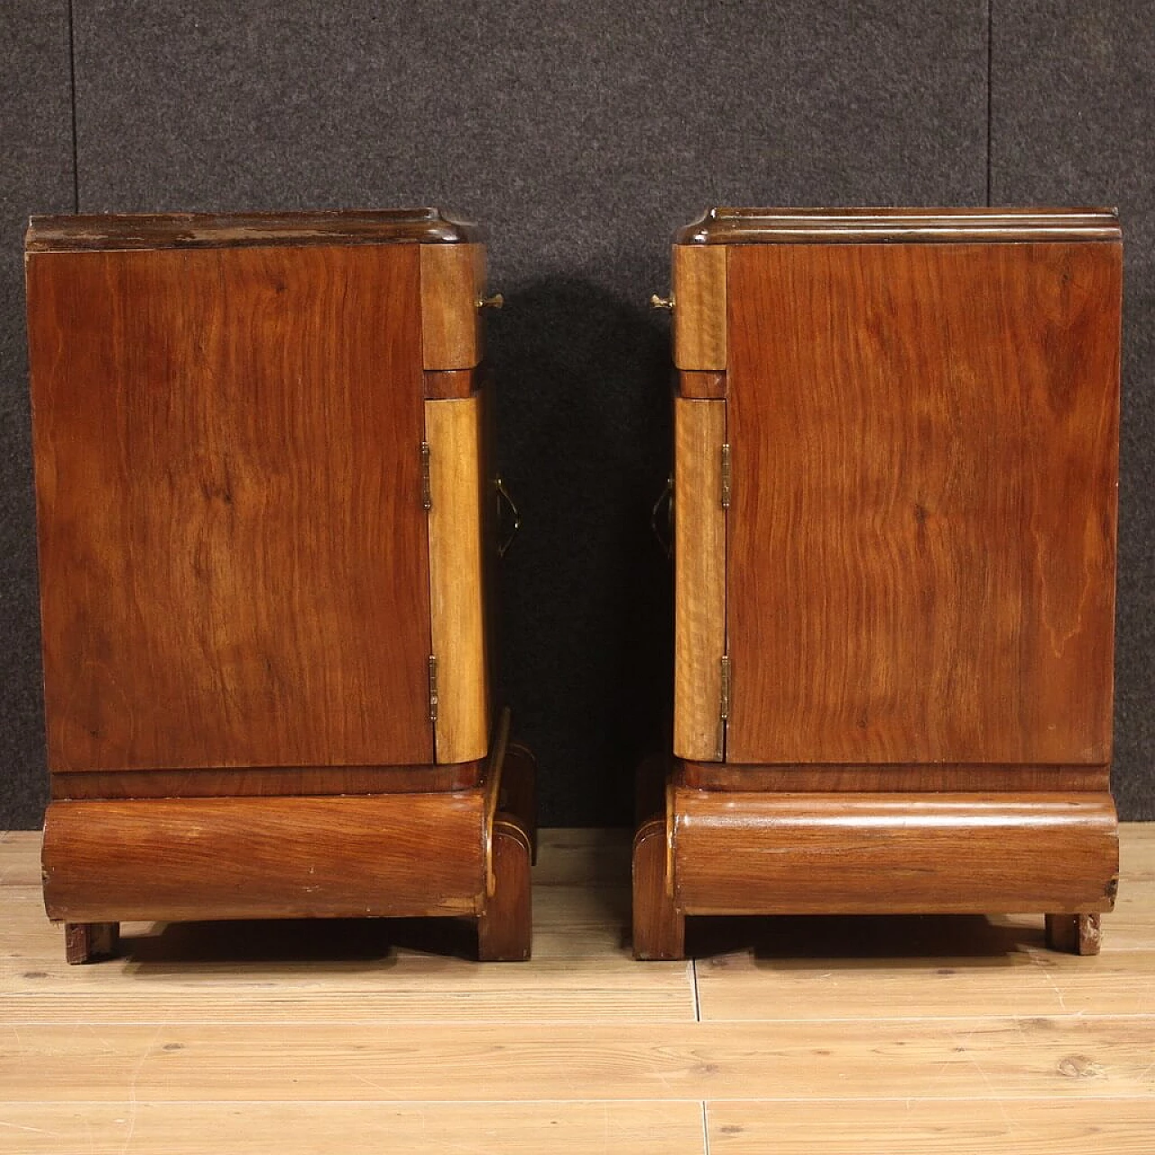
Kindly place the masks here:
<instances>
[{"instance_id":1,"label":"left wooden bedside table with worn, scuffed top edge","mask_svg":"<svg viewBox=\"0 0 1155 1155\"><path fill-rule=\"evenodd\" d=\"M433 209L32 219L69 961L121 921L310 916L471 916L483 959L528 956L532 758L489 696L484 258Z\"/></svg>"}]
</instances>

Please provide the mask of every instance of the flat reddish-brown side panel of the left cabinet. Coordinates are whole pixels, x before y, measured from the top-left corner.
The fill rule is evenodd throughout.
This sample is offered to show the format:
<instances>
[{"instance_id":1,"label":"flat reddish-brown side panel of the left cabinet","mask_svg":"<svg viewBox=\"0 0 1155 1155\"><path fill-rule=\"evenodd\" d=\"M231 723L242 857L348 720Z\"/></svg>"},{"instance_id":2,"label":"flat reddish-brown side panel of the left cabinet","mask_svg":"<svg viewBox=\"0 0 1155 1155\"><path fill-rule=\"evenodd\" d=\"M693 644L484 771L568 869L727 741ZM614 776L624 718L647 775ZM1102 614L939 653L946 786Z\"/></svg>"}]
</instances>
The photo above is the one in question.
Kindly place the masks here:
<instances>
[{"instance_id":1,"label":"flat reddish-brown side panel of the left cabinet","mask_svg":"<svg viewBox=\"0 0 1155 1155\"><path fill-rule=\"evenodd\" d=\"M29 256L53 769L433 761L417 248Z\"/></svg>"}]
</instances>

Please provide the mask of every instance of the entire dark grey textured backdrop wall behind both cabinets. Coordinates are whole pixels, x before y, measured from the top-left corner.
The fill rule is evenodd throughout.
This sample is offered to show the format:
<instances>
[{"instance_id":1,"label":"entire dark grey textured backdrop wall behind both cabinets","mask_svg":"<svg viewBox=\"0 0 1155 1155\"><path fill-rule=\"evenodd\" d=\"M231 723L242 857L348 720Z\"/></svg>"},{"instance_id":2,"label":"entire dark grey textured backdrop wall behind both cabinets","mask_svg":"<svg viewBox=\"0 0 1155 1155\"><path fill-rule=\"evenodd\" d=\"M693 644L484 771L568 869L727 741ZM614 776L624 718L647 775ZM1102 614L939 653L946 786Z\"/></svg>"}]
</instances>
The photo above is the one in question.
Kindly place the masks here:
<instances>
[{"instance_id":1,"label":"entire dark grey textured backdrop wall behind both cabinets","mask_svg":"<svg viewBox=\"0 0 1155 1155\"><path fill-rule=\"evenodd\" d=\"M550 825L628 820L669 698L649 536L671 231L710 203L1118 204L1116 789L1155 817L1155 21L1135 2L0 6L0 828L45 799L21 232L31 213L449 206L487 226L504 681Z\"/></svg>"}]
</instances>

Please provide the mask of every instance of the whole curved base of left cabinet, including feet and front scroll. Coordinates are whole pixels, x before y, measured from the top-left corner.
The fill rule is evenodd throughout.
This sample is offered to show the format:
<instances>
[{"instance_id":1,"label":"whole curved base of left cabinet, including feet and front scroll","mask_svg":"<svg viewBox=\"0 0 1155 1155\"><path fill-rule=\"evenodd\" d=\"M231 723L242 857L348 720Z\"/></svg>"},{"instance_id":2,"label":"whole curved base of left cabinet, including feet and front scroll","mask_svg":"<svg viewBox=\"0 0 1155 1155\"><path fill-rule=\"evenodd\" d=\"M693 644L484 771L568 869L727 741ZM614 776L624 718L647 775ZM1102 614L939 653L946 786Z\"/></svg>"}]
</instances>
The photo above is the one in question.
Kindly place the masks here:
<instances>
[{"instance_id":1,"label":"whole curved base of left cabinet, including feet and front scroll","mask_svg":"<svg viewBox=\"0 0 1155 1155\"><path fill-rule=\"evenodd\" d=\"M468 916L483 959L527 959L532 754L504 722L475 789L54 802L44 901L69 962L121 922ZM500 808L499 808L500 805Z\"/></svg>"}]
</instances>

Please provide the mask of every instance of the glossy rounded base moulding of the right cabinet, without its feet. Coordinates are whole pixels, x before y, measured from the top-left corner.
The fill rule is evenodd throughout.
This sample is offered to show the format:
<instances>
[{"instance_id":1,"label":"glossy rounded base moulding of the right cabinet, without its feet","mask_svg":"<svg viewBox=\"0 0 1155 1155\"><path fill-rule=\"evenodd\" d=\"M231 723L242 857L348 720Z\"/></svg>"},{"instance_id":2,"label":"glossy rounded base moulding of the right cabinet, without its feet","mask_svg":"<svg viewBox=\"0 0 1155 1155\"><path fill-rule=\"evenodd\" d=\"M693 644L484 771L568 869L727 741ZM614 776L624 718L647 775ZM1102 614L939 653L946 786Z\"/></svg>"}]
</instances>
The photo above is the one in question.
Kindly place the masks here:
<instances>
[{"instance_id":1,"label":"glossy rounded base moulding of the right cabinet, without its feet","mask_svg":"<svg viewBox=\"0 0 1155 1155\"><path fill-rule=\"evenodd\" d=\"M686 914L1110 910L1110 795L673 795Z\"/></svg>"}]
</instances>

